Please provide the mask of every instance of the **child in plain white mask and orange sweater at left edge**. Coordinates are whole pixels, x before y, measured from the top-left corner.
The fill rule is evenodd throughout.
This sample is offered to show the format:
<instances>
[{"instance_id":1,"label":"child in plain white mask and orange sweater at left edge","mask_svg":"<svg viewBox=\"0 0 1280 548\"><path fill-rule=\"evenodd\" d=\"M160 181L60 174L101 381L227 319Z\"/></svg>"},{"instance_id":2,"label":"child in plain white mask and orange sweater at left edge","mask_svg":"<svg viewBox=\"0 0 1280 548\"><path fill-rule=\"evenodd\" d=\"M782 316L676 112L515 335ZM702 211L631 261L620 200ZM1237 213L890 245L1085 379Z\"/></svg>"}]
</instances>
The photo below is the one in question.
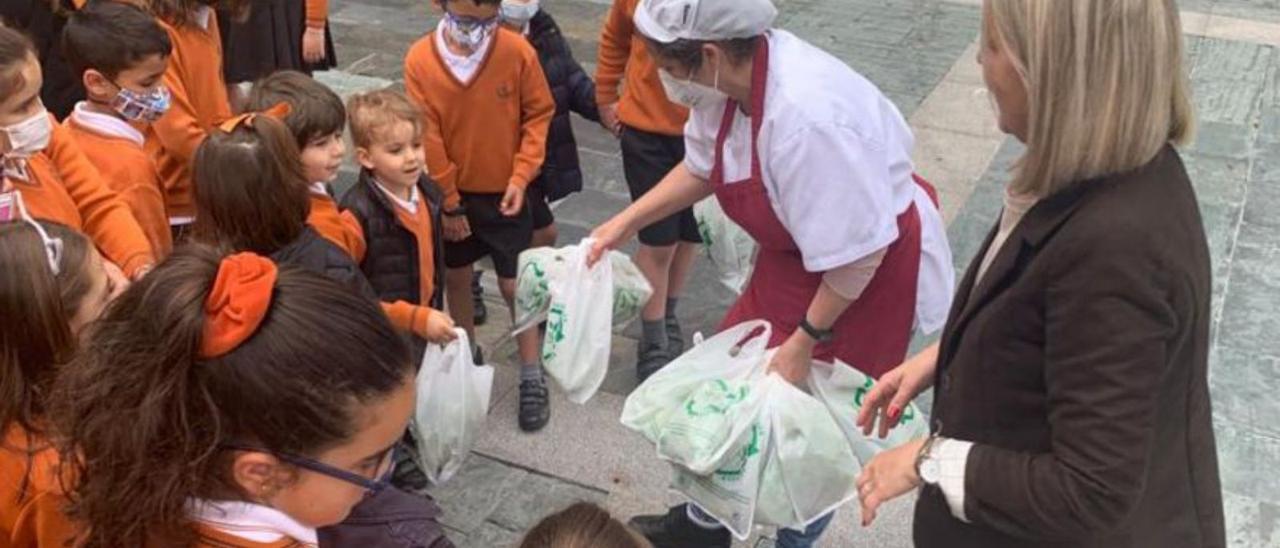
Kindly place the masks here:
<instances>
[{"instance_id":1,"label":"child in plain white mask and orange sweater at left edge","mask_svg":"<svg viewBox=\"0 0 1280 548\"><path fill-rule=\"evenodd\" d=\"M42 81L31 41L0 26L0 195L20 193L33 218L84 232L113 275L123 269L140 278L155 264L151 245L70 131L45 110Z\"/></svg>"}]
</instances>

